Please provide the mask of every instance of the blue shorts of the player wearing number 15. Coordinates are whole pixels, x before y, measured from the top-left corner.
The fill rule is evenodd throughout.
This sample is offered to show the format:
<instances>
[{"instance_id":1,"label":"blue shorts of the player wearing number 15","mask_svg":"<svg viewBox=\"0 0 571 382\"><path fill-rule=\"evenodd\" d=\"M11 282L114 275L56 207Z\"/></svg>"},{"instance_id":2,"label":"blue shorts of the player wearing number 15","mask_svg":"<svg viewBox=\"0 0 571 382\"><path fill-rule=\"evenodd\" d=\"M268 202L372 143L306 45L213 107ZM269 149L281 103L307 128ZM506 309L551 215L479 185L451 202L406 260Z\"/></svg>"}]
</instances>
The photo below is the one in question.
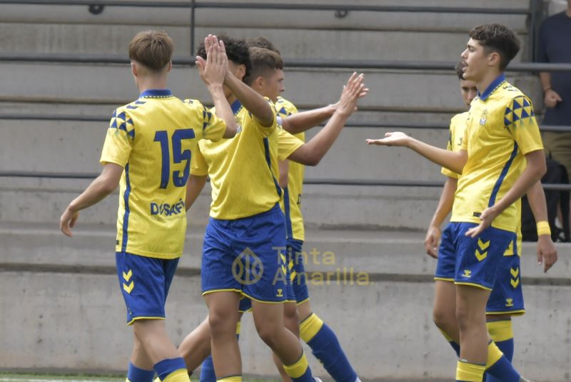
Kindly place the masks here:
<instances>
[{"instance_id":1,"label":"blue shorts of the player wearing number 15","mask_svg":"<svg viewBox=\"0 0 571 382\"><path fill-rule=\"evenodd\" d=\"M178 258L165 260L115 253L119 287L127 306L127 324L141 318L164 319L168 288L171 288Z\"/></svg>"}]
</instances>

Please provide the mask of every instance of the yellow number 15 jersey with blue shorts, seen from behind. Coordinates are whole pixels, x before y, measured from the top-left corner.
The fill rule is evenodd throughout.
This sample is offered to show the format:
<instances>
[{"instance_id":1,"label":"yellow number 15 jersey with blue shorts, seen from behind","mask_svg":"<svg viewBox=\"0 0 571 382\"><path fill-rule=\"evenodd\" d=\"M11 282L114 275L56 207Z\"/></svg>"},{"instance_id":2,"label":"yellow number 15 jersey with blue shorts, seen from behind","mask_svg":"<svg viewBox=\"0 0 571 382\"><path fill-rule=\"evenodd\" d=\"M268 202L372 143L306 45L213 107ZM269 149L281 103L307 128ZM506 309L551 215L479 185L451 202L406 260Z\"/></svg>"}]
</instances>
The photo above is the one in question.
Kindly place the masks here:
<instances>
[{"instance_id":1,"label":"yellow number 15 jersey with blue shorts, seen from behind","mask_svg":"<svg viewBox=\"0 0 571 382\"><path fill-rule=\"evenodd\" d=\"M202 139L226 124L199 101L168 89L144 91L113 112L101 164L125 170L119 186L116 262L127 322L164 318L164 304L186 232L186 181Z\"/></svg>"}]
</instances>

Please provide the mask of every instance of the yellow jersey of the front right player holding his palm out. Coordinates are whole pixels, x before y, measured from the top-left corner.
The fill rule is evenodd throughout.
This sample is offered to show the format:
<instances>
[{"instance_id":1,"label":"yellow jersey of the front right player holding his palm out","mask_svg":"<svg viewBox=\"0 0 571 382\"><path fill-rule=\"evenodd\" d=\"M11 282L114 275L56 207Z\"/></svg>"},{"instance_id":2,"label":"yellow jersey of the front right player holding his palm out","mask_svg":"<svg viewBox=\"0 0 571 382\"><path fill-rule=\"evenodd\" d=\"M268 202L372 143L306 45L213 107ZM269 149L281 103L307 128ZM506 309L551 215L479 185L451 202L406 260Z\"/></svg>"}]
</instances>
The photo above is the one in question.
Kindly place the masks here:
<instances>
[{"instance_id":1,"label":"yellow jersey of the front right player holding his palm out","mask_svg":"<svg viewBox=\"0 0 571 382\"><path fill-rule=\"evenodd\" d=\"M480 223L525 169L525 154L542 150L539 127L530 99L508 84L502 74L472 101L460 149L468 161L458 180L450 221ZM492 227L517 231L520 201L507 207Z\"/></svg>"}]
</instances>

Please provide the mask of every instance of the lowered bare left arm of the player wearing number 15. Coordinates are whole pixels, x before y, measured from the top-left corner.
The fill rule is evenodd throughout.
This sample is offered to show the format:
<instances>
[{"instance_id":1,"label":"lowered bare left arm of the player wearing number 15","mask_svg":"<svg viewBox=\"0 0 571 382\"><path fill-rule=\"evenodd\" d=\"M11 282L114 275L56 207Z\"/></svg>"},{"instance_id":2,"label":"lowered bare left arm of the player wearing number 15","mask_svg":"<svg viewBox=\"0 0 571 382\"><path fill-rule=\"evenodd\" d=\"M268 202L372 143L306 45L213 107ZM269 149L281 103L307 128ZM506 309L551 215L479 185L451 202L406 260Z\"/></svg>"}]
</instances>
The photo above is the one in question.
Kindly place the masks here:
<instances>
[{"instance_id":1,"label":"lowered bare left arm of the player wearing number 15","mask_svg":"<svg viewBox=\"0 0 571 382\"><path fill-rule=\"evenodd\" d=\"M93 206L112 193L119 184L121 174L123 174L123 167L118 164L108 163L103 166L101 174L87 186L87 189L81 195L69 203L66 211L59 218L59 229L61 232L71 237L71 228L74 228L76 224L79 211Z\"/></svg>"}]
</instances>

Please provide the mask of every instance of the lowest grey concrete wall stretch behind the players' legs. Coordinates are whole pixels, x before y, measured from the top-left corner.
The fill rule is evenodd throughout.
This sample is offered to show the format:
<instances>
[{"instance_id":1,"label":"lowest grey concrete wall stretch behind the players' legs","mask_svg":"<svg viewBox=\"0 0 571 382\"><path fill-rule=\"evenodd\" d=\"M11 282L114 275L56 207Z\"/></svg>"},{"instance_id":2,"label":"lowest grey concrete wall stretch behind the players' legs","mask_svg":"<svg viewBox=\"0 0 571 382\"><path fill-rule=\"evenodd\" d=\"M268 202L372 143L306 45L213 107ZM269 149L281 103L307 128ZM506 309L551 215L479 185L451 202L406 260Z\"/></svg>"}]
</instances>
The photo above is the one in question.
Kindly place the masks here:
<instances>
[{"instance_id":1,"label":"lowest grey concrete wall stretch behind the players' legs","mask_svg":"<svg viewBox=\"0 0 571 382\"><path fill-rule=\"evenodd\" d=\"M0 225L0 368L121 371L131 333L113 273L111 227L79 226L65 238L55 227ZM189 231L167 304L167 327L178 343L206 313L199 296L201 231ZM338 333L362 378L451 379L455 356L431 322L435 261L415 233L308 231L305 250L333 253L334 263L310 257L311 271L353 267L368 285L310 285L316 313ZM571 247L558 246L560 262L544 275L535 248L522 259L527 313L515 319L515 365L537 381L570 381ZM331 255L328 255L331 258ZM244 372L275 376L268 350L244 319ZM323 369L310 357L318 376Z\"/></svg>"}]
</instances>

